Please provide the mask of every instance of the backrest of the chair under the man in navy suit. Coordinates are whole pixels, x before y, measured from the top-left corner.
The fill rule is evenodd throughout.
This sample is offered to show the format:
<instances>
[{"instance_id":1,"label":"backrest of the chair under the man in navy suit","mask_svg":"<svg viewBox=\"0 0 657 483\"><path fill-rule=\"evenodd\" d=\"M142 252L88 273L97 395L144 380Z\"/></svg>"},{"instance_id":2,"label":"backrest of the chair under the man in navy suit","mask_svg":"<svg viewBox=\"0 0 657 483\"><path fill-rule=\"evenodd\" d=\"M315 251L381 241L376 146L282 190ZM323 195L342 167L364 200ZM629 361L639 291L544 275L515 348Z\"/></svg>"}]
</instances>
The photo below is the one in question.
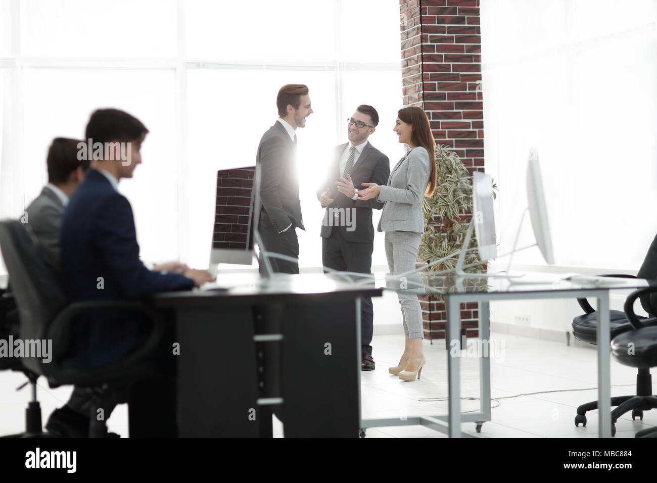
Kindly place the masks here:
<instances>
[{"instance_id":1,"label":"backrest of the chair under the man in navy suit","mask_svg":"<svg viewBox=\"0 0 657 483\"><path fill-rule=\"evenodd\" d=\"M28 226L16 220L0 221L0 250L9 271L9 283L18 306L20 339L43 340L49 324L66 306L66 296L53 272L39 256ZM57 341L53 340L53 348ZM54 349L53 349L54 350ZM43 357L24 357L25 367L43 374Z\"/></svg>"}]
</instances>

